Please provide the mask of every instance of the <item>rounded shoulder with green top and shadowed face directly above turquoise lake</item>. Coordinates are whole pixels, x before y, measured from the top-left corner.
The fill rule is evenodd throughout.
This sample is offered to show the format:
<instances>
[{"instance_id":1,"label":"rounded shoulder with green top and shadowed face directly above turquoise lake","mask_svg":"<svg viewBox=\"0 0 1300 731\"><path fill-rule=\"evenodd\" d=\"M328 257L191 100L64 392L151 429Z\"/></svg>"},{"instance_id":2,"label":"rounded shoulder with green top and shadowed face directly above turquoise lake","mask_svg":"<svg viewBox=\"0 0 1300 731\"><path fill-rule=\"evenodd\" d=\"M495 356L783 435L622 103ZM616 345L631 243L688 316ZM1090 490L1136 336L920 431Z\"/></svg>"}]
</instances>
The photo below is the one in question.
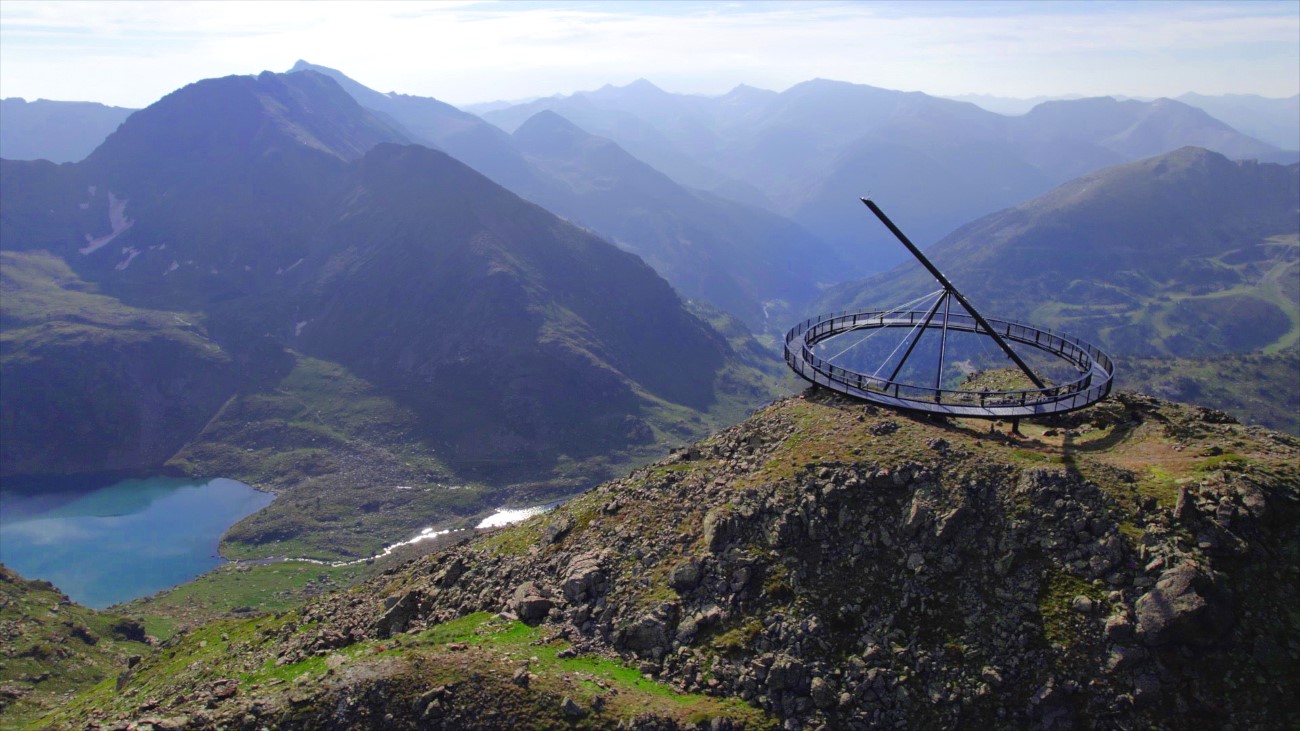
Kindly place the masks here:
<instances>
[{"instance_id":1,"label":"rounded shoulder with green top and shadowed face directly above turquoise lake","mask_svg":"<svg viewBox=\"0 0 1300 731\"><path fill-rule=\"evenodd\" d=\"M44 252L0 252L0 475L161 464L234 393L188 312L129 307Z\"/></svg>"}]
</instances>

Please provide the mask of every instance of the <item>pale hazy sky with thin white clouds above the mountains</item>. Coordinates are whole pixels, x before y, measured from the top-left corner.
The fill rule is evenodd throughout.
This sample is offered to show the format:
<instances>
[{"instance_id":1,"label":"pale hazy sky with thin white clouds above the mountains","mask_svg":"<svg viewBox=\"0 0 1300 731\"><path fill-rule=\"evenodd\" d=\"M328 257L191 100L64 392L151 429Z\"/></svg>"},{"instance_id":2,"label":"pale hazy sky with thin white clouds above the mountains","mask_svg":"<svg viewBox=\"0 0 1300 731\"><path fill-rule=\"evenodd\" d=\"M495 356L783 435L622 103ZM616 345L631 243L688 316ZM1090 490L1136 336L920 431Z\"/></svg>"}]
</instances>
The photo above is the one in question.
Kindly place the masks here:
<instances>
[{"instance_id":1,"label":"pale hazy sky with thin white clouds above the mountains","mask_svg":"<svg viewBox=\"0 0 1300 731\"><path fill-rule=\"evenodd\" d=\"M0 96L143 107L298 59L454 104L647 78L935 95L1300 92L1300 1L0 3Z\"/></svg>"}]
</instances>

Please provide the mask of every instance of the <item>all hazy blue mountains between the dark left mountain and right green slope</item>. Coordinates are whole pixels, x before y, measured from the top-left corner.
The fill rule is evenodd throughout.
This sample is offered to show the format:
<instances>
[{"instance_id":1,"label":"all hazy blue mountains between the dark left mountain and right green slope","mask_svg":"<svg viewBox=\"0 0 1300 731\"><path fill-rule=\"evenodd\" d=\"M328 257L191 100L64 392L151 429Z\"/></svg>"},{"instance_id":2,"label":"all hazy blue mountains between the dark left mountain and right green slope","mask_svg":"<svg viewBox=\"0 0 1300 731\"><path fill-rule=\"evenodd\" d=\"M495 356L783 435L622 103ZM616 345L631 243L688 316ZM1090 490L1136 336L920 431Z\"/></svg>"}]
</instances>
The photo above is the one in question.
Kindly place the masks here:
<instances>
[{"instance_id":1,"label":"all hazy blue mountains between the dark left mountain and right green slope","mask_svg":"<svg viewBox=\"0 0 1300 731\"><path fill-rule=\"evenodd\" d=\"M1279 148L1196 108L1254 120L1252 129L1284 139L1287 125L1296 126L1287 109L1297 99L1046 100L1008 117L827 79L783 92L742 85L712 98L640 79L476 107L489 125L437 99L374 91L334 69L299 61L294 70L330 75L407 139L606 235L682 295L774 337L781 325L772 319L809 311L822 287L902 260L887 234L862 225L858 195L896 200L893 216L927 245L1078 176L1183 146L1261 161L1300 156L1295 134ZM511 133L540 112L573 129L560 134L555 120L534 126L525 150ZM556 134L547 142L538 129ZM577 142L578 130L589 139Z\"/></svg>"}]
</instances>

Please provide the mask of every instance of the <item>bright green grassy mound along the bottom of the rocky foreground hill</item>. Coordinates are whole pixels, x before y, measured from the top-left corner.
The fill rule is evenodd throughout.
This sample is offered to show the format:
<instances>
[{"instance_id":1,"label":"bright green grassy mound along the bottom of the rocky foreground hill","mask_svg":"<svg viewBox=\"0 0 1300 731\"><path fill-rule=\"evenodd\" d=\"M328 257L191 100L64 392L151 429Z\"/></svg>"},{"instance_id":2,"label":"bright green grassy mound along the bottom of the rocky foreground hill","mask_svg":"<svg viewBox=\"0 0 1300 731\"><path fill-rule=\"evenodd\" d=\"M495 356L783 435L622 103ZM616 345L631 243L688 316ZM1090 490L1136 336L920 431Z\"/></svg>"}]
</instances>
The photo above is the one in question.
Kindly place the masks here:
<instances>
[{"instance_id":1,"label":"bright green grassy mound along the bottom of the rocky foreground hill","mask_svg":"<svg viewBox=\"0 0 1300 731\"><path fill-rule=\"evenodd\" d=\"M772 726L766 714L737 700L681 693L615 657L560 657L562 650L569 648L567 641L549 639L542 627L488 613L462 617L413 635L356 643L329 654L277 663L273 650L295 620L295 615L286 614L216 622L198 628L147 659L126 678L121 692L114 680L101 683L46 723L75 726L92 709L134 713L131 709L142 698L174 697L186 688L204 688L224 678L237 679L240 693L260 689L263 697L269 693L283 700L287 693L295 693L292 697L302 698L303 693L321 693L322 685L330 683L326 679L335 672L355 670L411 676L408 687L420 688L420 692L433 680L456 684L465 693L488 693L486 698L537 719L556 713L559 698L568 696L585 708L599 708L607 721L653 713L679 722L724 717L746 728ZM312 626L296 626L298 632L311 630ZM259 652L260 659L254 662ZM520 666L530 674L526 691L510 682ZM399 687L403 687L400 680L394 683L394 688Z\"/></svg>"}]
</instances>

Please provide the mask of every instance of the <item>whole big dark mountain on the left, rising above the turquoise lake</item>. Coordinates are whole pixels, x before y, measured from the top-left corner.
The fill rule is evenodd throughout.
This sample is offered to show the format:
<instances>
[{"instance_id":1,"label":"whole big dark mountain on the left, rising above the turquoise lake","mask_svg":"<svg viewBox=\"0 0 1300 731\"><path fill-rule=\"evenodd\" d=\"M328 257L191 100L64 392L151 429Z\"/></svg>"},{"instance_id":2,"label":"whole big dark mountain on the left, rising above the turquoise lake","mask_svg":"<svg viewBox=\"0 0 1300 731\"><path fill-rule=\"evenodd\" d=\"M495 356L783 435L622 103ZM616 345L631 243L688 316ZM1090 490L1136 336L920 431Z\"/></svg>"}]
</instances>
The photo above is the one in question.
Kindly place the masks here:
<instances>
[{"instance_id":1,"label":"whole big dark mountain on the left, rising above the turquoise lake","mask_svg":"<svg viewBox=\"0 0 1300 731\"><path fill-rule=\"evenodd\" d=\"M638 258L407 139L329 77L264 73L178 90L82 163L3 161L5 475L157 468L221 438L228 462L278 445L280 467L231 475L276 484L370 440L446 466L400 484L545 481L768 398ZM382 444L382 421L254 428L304 359L347 373L311 366L313 393L364 388L413 421ZM165 444L118 449L136 428Z\"/></svg>"}]
</instances>

